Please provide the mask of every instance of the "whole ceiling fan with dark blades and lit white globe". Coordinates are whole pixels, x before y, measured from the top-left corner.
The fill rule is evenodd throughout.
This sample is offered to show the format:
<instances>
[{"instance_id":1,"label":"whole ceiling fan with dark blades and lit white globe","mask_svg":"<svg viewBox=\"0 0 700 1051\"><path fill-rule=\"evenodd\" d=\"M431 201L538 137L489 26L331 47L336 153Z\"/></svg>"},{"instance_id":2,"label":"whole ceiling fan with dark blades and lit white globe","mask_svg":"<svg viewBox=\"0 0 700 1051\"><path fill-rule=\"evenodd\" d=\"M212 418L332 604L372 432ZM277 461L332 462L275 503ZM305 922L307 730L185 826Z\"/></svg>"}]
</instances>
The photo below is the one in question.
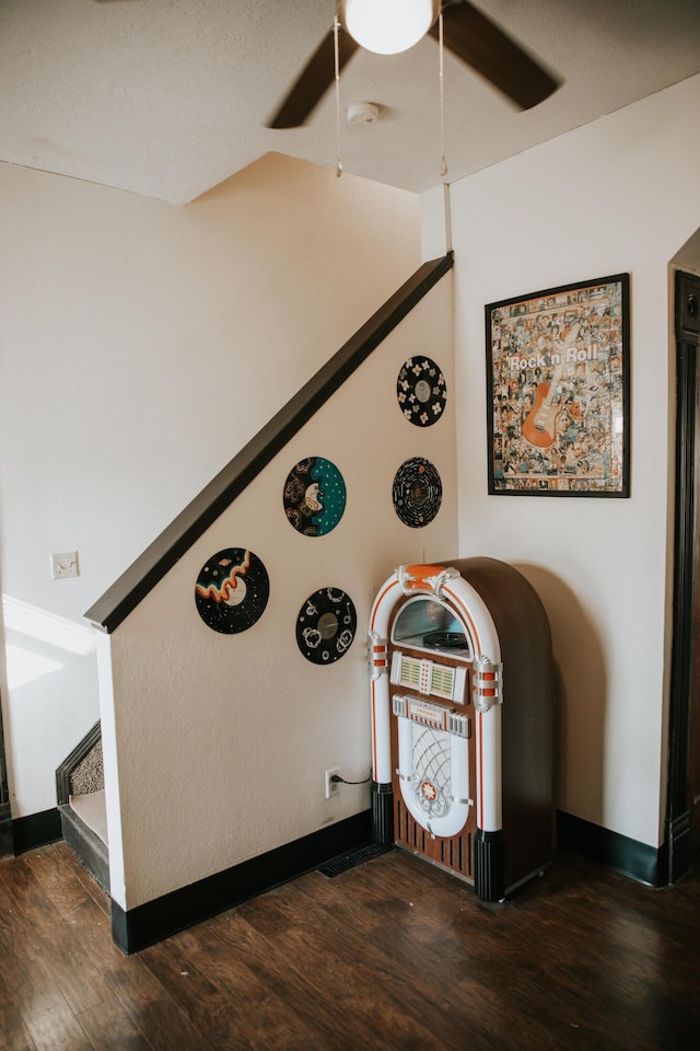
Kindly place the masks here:
<instances>
[{"instance_id":1,"label":"whole ceiling fan with dark blades and lit white globe","mask_svg":"<svg viewBox=\"0 0 700 1051\"><path fill-rule=\"evenodd\" d=\"M380 13L377 22L377 9L381 8L386 12L384 21ZM338 26L345 31L338 32L338 70L361 46L380 54L393 54L412 47L427 33L439 38L441 12L444 46L521 109L536 106L559 86L558 80L469 0L338 0ZM417 19L415 26L413 14ZM385 30L390 37L400 39L387 45L377 44L372 36L375 30ZM310 118L335 80L335 37L334 26L306 62L267 127L296 128Z\"/></svg>"}]
</instances>

